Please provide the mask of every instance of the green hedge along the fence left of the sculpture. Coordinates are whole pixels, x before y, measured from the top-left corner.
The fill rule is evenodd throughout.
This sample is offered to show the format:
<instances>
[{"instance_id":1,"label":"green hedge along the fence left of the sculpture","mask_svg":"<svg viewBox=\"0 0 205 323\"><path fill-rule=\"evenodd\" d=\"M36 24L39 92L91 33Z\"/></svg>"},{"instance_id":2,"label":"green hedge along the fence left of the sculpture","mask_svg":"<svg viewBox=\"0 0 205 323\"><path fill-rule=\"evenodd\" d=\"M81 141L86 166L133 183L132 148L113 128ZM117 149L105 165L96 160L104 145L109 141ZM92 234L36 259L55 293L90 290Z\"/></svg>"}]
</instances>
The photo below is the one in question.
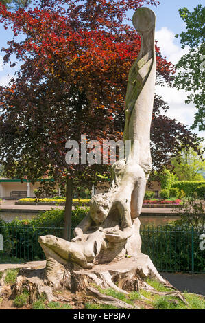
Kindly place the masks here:
<instances>
[{"instance_id":1,"label":"green hedge along the fence left of the sculpture","mask_svg":"<svg viewBox=\"0 0 205 323\"><path fill-rule=\"evenodd\" d=\"M72 227L76 227L87 213L88 208L72 210ZM10 223L1 220L0 233L3 234L3 241L10 244L6 255L24 261L43 260L44 254L38 243L38 236L53 234L62 238L63 226L64 210L57 209L41 213L31 220L13 220ZM2 252L2 258L4 254L5 251Z\"/></svg>"}]
</instances>

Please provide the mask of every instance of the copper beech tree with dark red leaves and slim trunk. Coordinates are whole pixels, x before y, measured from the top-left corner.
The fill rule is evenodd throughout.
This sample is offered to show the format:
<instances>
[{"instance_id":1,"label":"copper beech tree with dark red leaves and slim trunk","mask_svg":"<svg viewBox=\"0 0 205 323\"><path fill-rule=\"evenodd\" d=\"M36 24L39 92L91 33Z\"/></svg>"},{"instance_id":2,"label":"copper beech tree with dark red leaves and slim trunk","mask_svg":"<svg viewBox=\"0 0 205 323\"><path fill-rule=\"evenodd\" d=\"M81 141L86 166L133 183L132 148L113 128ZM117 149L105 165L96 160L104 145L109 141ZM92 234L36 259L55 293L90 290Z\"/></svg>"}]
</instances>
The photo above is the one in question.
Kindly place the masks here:
<instances>
[{"instance_id":1,"label":"copper beech tree with dark red leaves and slim trunk","mask_svg":"<svg viewBox=\"0 0 205 323\"><path fill-rule=\"evenodd\" d=\"M64 238L70 238L73 181L93 183L108 166L67 165L67 140L122 139L128 71L141 40L128 25L128 10L155 0L42 0L10 12L0 5L0 21L14 38L3 48L4 62L21 67L1 87L0 160L5 173L32 182L45 175L67 179ZM18 36L21 35L19 41ZM156 45L157 82L171 82L173 65ZM165 165L179 146L195 146L183 124L162 115L154 100L152 158ZM69 227L69 230L67 230Z\"/></svg>"}]
</instances>

